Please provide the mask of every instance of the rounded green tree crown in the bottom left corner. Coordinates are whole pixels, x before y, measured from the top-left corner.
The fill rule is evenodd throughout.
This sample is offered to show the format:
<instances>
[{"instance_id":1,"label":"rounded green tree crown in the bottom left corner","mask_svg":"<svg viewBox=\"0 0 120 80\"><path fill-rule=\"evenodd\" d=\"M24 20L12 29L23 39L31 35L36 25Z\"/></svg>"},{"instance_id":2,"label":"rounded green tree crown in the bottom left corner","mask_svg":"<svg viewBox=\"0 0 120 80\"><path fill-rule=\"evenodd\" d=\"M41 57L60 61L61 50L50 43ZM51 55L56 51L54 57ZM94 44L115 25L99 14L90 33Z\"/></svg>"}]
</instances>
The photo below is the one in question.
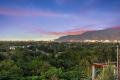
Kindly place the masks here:
<instances>
[{"instance_id":1,"label":"rounded green tree crown in the bottom left corner","mask_svg":"<svg viewBox=\"0 0 120 80\"><path fill-rule=\"evenodd\" d=\"M0 80L16 80L21 77L22 70L11 60L4 60L0 63Z\"/></svg>"}]
</instances>

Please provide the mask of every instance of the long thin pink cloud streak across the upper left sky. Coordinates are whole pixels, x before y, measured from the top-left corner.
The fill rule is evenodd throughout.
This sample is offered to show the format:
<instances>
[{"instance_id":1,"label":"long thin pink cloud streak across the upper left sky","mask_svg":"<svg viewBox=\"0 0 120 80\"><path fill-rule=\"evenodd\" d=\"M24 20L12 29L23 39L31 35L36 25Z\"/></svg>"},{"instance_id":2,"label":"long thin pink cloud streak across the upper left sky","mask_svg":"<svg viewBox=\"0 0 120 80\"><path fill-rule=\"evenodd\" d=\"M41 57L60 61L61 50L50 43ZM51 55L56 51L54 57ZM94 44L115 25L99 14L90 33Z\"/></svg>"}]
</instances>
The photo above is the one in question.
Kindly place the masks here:
<instances>
[{"instance_id":1,"label":"long thin pink cloud streak across the upper left sky","mask_svg":"<svg viewBox=\"0 0 120 80\"><path fill-rule=\"evenodd\" d=\"M1 8L0 14L12 15L12 16L60 16L58 13L50 11L29 10L29 9L13 9L13 8Z\"/></svg>"}]
</instances>

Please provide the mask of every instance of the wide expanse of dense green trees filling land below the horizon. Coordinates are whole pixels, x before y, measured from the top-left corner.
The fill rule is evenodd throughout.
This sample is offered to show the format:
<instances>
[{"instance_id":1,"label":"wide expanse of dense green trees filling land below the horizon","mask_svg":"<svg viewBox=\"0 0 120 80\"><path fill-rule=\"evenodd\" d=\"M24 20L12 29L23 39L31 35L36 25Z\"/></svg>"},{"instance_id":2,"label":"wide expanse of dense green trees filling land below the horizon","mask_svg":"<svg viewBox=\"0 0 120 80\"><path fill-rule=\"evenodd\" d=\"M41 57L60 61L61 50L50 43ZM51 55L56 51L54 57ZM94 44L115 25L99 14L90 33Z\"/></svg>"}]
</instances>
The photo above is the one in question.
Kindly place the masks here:
<instances>
[{"instance_id":1,"label":"wide expanse of dense green trees filling land below the horizon","mask_svg":"<svg viewBox=\"0 0 120 80\"><path fill-rule=\"evenodd\" d=\"M90 80L92 63L116 61L116 45L0 42L0 80ZM98 80L114 80L112 71L106 68Z\"/></svg>"}]
</instances>

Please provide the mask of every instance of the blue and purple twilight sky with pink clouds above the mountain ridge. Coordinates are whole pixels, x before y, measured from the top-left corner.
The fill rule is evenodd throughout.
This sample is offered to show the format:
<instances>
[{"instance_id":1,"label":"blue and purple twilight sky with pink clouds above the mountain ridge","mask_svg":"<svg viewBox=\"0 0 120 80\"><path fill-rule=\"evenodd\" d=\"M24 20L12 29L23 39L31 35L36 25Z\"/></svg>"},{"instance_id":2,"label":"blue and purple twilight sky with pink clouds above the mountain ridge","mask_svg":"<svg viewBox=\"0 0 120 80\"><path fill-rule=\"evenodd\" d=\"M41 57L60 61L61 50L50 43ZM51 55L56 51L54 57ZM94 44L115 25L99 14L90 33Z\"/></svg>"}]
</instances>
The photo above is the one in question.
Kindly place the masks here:
<instances>
[{"instance_id":1,"label":"blue and purple twilight sky with pink clouds above the mountain ridge","mask_svg":"<svg viewBox=\"0 0 120 80\"><path fill-rule=\"evenodd\" d=\"M120 25L120 0L0 0L0 40L53 40Z\"/></svg>"}]
</instances>

